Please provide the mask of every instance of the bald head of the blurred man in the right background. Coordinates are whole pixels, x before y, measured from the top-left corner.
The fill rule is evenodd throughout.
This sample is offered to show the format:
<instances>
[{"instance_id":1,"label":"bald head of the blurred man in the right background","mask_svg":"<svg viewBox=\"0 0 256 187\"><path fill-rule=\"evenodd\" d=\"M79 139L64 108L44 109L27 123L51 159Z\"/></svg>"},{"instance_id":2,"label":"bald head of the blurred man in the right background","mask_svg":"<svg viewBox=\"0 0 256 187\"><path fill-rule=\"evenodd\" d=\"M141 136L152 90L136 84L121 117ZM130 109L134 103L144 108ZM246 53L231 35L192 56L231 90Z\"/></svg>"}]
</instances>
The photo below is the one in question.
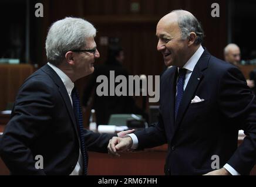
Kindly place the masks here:
<instances>
[{"instance_id":1,"label":"bald head of the blurred man in the right background","mask_svg":"<svg viewBox=\"0 0 256 187\"><path fill-rule=\"evenodd\" d=\"M236 66L240 64L241 52L237 44L230 43L224 48L224 58L228 63Z\"/></svg>"}]
</instances>

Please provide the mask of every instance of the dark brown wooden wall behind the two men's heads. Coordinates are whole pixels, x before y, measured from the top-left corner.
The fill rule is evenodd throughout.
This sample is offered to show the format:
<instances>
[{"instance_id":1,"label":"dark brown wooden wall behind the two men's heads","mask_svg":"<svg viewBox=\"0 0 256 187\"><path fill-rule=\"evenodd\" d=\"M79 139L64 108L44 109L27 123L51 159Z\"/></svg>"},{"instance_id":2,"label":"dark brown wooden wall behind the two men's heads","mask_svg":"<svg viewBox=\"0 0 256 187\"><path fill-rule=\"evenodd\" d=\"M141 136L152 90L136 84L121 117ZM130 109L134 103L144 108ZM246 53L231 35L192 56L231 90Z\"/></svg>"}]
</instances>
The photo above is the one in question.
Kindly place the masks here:
<instances>
[{"instance_id":1,"label":"dark brown wooden wall behind the two men's heads","mask_svg":"<svg viewBox=\"0 0 256 187\"><path fill-rule=\"evenodd\" d=\"M130 4L139 2L139 12L130 11ZM220 18L211 17L211 4L220 5ZM43 0L43 41L48 27L65 16L79 16L89 20L97 29L96 43L100 59L106 60L106 46L100 46L100 37L119 37L125 52L124 67L130 74L159 75L165 69L163 57L156 50L156 25L159 19L173 9L186 9L193 13L203 25L206 37L203 45L211 54L223 58L223 48L227 44L227 1L220 0ZM58 10L58 11L57 11ZM44 49L44 43L42 43ZM44 53L42 64L46 63ZM80 95L87 78L79 80Z\"/></svg>"}]
</instances>

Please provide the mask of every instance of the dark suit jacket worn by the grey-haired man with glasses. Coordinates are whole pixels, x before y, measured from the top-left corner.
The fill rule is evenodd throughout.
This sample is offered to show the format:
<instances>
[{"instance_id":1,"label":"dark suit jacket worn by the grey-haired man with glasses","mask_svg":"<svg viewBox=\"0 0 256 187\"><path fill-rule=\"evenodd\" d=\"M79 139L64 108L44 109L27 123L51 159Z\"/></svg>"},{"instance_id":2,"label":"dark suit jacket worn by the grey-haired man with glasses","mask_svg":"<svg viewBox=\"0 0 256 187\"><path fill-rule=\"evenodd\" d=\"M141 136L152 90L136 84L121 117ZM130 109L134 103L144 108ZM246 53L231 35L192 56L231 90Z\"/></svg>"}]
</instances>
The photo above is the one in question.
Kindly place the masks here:
<instances>
[{"instance_id":1,"label":"dark suit jacket worn by the grey-haired man with glasses","mask_svg":"<svg viewBox=\"0 0 256 187\"><path fill-rule=\"evenodd\" d=\"M107 152L114 134L86 130L87 150ZM69 175L79 157L79 137L68 92L56 72L43 66L19 89L0 143L11 174ZM36 155L43 169L35 168Z\"/></svg>"}]
</instances>

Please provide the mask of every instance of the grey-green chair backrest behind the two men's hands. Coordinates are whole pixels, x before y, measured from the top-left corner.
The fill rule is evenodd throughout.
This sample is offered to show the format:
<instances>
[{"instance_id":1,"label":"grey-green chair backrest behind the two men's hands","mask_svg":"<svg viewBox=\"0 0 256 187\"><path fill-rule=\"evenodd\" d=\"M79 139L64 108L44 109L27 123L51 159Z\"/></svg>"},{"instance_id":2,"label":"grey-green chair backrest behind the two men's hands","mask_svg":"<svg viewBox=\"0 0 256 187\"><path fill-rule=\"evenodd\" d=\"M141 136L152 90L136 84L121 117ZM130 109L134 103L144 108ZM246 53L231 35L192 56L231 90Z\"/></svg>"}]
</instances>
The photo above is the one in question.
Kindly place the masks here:
<instances>
[{"instance_id":1,"label":"grey-green chair backrest behind the two men's hands","mask_svg":"<svg viewBox=\"0 0 256 187\"><path fill-rule=\"evenodd\" d=\"M141 120L142 116L134 114L113 114L109 117L108 124L115 126L126 126L126 122L129 119Z\"/></svg>"}]
</instances>

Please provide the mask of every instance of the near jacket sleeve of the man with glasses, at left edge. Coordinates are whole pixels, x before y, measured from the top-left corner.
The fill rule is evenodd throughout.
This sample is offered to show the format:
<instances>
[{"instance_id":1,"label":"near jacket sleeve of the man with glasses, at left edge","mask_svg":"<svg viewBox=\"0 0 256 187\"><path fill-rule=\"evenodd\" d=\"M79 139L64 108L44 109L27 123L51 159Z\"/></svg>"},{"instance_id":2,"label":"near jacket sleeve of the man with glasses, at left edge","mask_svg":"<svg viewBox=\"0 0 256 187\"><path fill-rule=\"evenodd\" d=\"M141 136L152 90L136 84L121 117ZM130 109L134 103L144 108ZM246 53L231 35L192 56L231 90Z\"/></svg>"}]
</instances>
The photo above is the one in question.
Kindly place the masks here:
<instances>
[{"instance_id":1,"label":"near jacket sleeve of the man with glasses, at left edge","mask_svg":"<svg viewBox=\"0 0 256 187\"><path fill-rule=\"evenodd\" d=\"M0 154L12 174L45 175L36 169L33 142L50 124L53 99L50 88L41 81L28 81L16 96L11 120L0 142Z\"/></svg>"}]
</instances>

